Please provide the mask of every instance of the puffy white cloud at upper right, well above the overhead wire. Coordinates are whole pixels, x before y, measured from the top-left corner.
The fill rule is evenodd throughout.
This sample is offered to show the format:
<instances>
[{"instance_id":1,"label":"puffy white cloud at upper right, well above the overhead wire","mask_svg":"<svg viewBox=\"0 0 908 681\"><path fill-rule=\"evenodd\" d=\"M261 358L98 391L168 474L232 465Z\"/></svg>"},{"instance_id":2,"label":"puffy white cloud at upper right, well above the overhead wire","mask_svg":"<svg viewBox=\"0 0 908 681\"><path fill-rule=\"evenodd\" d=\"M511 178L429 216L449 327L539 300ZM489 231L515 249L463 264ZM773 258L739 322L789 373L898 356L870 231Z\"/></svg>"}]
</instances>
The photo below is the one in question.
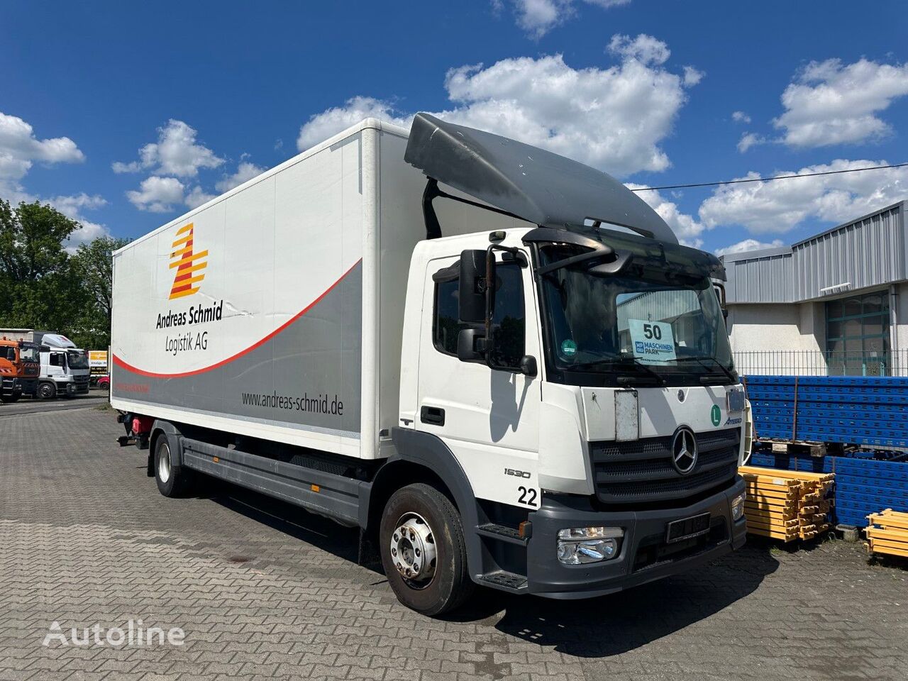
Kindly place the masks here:
<instances>
[{"instance_id":1,"label":"puffy white cloud at upper right, well above the overhead wire","mask_svg":"<svg viewBox=\"0 0 908 681\"><path fill-rule=\"evenodd\" d=\"M908 64L811 62L785 88L785 113L773 124L796 147L871 141L892 133L877 114L905 94Z\"/></svg>"}]
</instances>

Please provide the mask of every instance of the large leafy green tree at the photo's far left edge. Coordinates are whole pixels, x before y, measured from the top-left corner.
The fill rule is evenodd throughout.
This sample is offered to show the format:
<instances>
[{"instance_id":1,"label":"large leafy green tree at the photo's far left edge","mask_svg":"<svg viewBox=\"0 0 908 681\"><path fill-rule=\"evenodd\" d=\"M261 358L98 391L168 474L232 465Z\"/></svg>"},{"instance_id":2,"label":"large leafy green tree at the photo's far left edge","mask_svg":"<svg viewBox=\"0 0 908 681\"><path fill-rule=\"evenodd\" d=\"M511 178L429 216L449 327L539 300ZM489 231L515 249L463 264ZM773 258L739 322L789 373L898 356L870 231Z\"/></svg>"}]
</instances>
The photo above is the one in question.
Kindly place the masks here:
<instances>
[{"instance_id":1,"label":"large leafy green tree at the photo's far left edge","mask_svg":"<svg viewBox=\"0 0 908 681\"><path fill-rule=\"evenodd\" d=\"M65 243L81 227L48 204L0 199L0 326L78 326L87 296Z\"/></svg>"}]
</instances>

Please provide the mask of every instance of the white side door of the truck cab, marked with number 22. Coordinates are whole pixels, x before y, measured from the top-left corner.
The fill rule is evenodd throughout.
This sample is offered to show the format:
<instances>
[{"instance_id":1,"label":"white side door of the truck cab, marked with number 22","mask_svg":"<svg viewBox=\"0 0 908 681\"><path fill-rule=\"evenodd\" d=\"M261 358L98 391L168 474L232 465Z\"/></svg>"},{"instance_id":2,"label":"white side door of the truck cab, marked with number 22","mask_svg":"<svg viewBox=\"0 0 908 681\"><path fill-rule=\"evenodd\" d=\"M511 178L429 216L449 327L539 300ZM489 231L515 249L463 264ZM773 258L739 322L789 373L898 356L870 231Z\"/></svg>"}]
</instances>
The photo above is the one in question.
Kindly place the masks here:
<instances>
[{"instance_id":1,"label":"white side door of the truck cab, marked with number 22","mask_svg":"<svg viewBox=\"0 0 908 681\"><path fill-rule=\"evenodd\" d=\"M478 498L538 508L541 378L520 370L527 355L541 367L530 269L498 262L493 338L496 364L506 368L493 370L485 360L458 359L459 331L467 328L458 320L459 281L433 279L456 272L458 260L429 261L425 273L416 428L445 441Z\"/></svg>"}]
</instances>

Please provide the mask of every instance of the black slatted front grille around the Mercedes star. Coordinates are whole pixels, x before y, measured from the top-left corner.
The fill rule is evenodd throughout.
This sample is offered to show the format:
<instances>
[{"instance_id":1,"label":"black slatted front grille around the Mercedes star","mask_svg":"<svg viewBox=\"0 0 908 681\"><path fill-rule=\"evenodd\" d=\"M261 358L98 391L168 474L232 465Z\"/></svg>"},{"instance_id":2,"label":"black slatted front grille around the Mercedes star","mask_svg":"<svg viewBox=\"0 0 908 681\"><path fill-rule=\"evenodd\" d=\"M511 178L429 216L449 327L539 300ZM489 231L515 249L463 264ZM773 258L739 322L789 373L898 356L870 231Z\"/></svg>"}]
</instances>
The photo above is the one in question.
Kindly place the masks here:
<instances>
[{"instance_id":1,"label":"black slatted front grille around the Mercedes star","mask_svg":"<svg viewBox=\"0 0 908 681\"><path fill-rule=\"evenodd\" d=\"M696 466L681 475L672 464L672 436L628 442L593 442L590 454L597 497L637 504L694 497L735 478L741 430L696 435Z\"/></svg>"}]
</instances>

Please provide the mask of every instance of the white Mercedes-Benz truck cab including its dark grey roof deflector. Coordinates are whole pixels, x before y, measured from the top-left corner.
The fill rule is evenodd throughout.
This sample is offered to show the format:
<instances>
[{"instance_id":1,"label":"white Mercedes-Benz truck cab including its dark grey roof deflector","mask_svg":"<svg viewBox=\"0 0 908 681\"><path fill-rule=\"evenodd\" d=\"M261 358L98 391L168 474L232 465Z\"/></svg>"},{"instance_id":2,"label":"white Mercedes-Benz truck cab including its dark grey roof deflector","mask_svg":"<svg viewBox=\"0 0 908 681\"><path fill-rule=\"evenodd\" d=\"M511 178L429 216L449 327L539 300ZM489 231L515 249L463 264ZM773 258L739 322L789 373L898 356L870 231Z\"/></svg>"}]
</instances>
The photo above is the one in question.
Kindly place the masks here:
<instances>
[{"instance_id":1,"label":"white Mercedes-Benz truck cab including its dark grey roof deflector","mask_svg":"<svg viewBox=\"0 0 908 681\"><path fill-rule=\"evenodd\" d=\"M420 114L406 158L429 178L429 238L410 263L393 435L448 451L469 480L474 580L598 596L741 547L745 394L721 262L555 154ZM444 237L439 197L522 222Z\"/></svg>"}]
</instances>

